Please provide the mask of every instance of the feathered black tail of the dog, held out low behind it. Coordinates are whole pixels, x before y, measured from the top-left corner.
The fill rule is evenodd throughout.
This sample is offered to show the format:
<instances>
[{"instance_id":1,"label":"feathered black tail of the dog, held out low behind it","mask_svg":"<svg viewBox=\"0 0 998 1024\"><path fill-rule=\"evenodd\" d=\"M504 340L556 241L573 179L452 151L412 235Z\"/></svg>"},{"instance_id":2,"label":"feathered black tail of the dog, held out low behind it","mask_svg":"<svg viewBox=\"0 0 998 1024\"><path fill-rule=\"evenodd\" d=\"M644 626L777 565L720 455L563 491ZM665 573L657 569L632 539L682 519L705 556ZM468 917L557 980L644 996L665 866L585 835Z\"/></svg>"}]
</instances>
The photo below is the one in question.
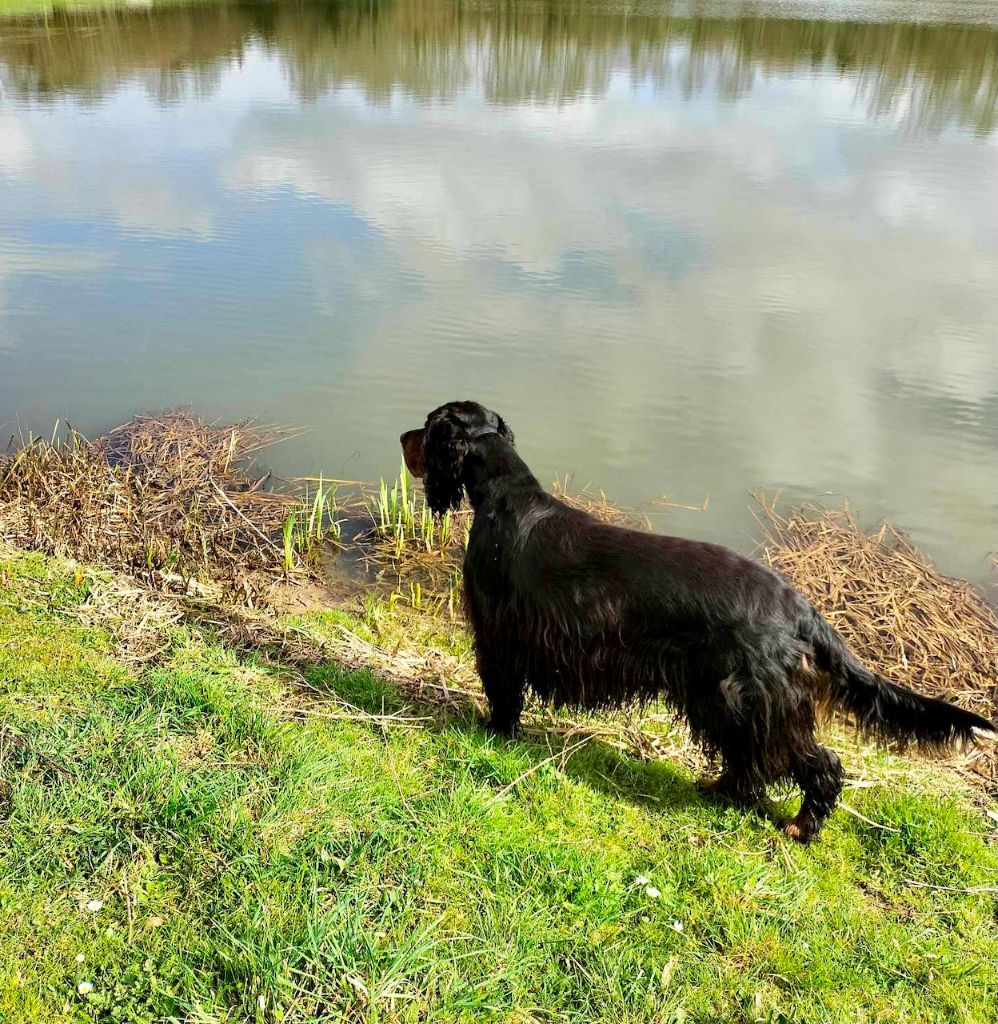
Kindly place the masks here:
<instances>
[{"instance_id":1,"label":"feathered black tail of the dog, held out low behind it","mask_svg":"<svg viewBox=\"0 0 998 1024\"><path fill-rule=\"evenodd\" d=\"M842 638L814 610L806 639L817 667L829 681L831 703L850 712L858 728L880 742L945 750L998 737L998 724L946 700L925 697L871 672L853 656Z\"/></svg>"}]
</instances>

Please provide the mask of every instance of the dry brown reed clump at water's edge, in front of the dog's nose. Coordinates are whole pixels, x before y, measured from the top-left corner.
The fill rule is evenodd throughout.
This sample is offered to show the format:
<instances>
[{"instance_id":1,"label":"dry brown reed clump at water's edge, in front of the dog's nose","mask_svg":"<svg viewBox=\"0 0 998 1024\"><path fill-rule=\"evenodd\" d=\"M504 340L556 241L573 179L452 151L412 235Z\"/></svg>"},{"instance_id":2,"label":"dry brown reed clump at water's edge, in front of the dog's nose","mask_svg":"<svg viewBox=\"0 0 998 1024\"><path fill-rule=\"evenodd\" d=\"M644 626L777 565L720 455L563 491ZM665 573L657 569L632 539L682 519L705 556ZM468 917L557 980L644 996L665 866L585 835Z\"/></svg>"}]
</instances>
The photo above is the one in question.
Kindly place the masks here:
<instances>
[{"instance_id":1,"label":"dry brown reed clump at water's edge, in front of the dog's nose","mask_svg":"<svg viewBox=\"0 0 998 1024\"><path fill-rule=\"evenodd\" d=\"M252 601L286 572L281 531L301 498L265 488L252 456L293 431L137 417L90 441L29 438L0 456L0 535L187 593L200 581Z\"/></svg>"}]
</instances>

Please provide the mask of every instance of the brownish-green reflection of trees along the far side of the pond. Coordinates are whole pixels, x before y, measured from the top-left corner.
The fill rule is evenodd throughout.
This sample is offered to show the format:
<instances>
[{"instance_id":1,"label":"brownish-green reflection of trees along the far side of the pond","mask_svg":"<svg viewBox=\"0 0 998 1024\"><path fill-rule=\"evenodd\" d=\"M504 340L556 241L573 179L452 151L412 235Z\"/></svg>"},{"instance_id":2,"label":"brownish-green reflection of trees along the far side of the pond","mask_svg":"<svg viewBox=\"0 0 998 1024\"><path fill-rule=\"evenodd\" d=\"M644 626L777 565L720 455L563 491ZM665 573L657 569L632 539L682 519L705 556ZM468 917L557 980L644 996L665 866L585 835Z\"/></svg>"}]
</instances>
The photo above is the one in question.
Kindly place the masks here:
<instances>
[{"instance_id":1,"label":"brownish-green reflection of trees along the far side of the pond","mask_svg":"<svg viewBox=\"0 0 998 1024\"><path fill-rule=\"evenodd\" d=\"M633 84L736 99L761 77L833 71L851 77L873 116L900 115L930 131L994 128L993 25L674 13L686 6L346 0L63 12L0 31L0 69L5 88L21 96L98 98L135 78L169 102L210 93L223 68L259 45L279 55L306 100L346 84L372 102L399 90L449 99L475 82L488 101L508 104L604 95L620 72Z\"/></svg>"}]
</instances>

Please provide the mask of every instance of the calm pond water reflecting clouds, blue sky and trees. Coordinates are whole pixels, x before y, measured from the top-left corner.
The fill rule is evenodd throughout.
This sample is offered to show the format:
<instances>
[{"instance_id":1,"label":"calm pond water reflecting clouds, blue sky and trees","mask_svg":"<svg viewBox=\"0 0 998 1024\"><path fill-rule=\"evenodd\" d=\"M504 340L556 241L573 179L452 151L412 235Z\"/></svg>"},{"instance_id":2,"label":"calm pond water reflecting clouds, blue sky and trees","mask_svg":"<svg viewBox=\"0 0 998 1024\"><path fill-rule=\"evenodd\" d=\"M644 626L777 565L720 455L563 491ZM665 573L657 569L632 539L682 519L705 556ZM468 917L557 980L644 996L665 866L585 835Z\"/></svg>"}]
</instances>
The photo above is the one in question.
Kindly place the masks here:
<instances>
[{"instance_id":1,"label":"calm pond water reflecting clouds, blue sky and trees","mask_svg":"<svg viewBox=\"0 0 998 1024\"><path fill-rule=\"evenodd\" d=\"M0 425L192 404L750 549L749 490L998 548L998 5L365 0L0 20Z\"/></svg>"}]
</instances>

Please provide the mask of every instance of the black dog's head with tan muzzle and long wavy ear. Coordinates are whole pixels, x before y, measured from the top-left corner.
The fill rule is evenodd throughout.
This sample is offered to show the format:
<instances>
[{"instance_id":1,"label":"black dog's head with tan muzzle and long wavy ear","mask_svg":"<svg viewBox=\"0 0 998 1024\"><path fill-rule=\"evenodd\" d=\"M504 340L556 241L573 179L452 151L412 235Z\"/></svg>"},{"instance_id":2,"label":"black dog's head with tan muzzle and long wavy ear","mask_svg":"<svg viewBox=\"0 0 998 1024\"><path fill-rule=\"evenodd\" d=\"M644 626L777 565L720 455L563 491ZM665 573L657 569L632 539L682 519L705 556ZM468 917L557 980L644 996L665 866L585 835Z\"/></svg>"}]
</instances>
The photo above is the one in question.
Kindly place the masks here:
<instances>
[{"instance_id":1,"label":"black dog's head with tan muzzle and long wavy ear","mask_svg":"<svg viewBox=\"0 0 998 1024\"><path fill-rule=\"evenodd\" d=\"M513 431L497 413L477 401L448 401L430 413L424 426L399 437L405 465L423 480L427 504L437 515L461 505L465 459L486 434L513 443Z\"/></svg>"}]
</instances>

